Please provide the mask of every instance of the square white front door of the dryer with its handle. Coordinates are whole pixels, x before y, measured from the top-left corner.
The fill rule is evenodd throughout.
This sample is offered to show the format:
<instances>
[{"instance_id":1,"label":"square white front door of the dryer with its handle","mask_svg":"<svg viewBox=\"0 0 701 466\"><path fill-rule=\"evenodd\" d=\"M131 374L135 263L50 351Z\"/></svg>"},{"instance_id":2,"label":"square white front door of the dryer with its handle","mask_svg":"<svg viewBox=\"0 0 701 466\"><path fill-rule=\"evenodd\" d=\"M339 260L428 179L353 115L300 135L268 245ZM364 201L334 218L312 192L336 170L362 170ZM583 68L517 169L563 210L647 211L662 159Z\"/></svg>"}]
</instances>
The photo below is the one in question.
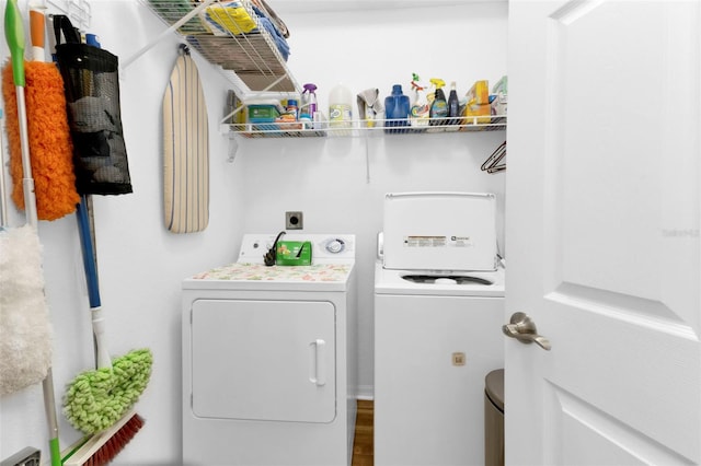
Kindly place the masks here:
<instances>
[{"instance_id":1,"label":"square white front door of the dryer with its handle","mask_svg":"<svg viewBox=\"0 0 701 466\"><path fill-rule=\"evenodd\" d=\"M196 300L191 327L193 413L333 421L334 329L330 302Z\"/></svg>"}]
</instances>

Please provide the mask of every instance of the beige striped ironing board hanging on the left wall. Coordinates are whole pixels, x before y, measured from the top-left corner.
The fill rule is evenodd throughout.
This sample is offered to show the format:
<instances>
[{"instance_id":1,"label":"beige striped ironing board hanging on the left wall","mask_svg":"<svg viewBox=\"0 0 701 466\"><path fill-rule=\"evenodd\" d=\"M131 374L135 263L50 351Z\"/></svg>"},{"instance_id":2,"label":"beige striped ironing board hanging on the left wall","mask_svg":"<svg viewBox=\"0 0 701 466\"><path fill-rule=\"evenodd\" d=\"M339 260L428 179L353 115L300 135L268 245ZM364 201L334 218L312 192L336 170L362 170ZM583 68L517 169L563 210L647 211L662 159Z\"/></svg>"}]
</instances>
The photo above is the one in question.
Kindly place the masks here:
<instances>
[{"instance_id":1,"label":"beige striped ironing board hanging on the left wall","mask_svg":"<svg viewBox=\"0 0 701 466\"><path fill-rule=\"evenodd\" d=\"M209 222L209 128L197 67L181 45L163 95L163 213L173 233Z\"/></svg>"}]
</instances>

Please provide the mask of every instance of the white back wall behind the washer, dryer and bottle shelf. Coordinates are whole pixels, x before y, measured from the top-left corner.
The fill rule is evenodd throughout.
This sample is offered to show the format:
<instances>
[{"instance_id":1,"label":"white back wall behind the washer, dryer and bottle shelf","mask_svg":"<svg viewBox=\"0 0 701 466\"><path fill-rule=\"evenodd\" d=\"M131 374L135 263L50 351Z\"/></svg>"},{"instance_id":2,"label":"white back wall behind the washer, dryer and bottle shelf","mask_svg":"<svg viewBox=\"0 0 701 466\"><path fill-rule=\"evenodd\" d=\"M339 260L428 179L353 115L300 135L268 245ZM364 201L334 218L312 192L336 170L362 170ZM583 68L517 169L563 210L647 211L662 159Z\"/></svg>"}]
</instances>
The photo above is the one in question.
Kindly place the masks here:
<instances>
[{"instance_id":1,"label":"white back wall behind the washer, dryer and bottle shelf","mask_svg":"<svg viewBox=\"0 0 701 466\"><path fill-rule=\"evenodd\" d=\"M269 2L273 8L279 4L278 13L290 30L292 74L300 84L319 86L320 108L327 107L327 94L338 81L354 94L377 88L382 98L395 83L413 96L412 72L426 83L434 77L457 81L461 96L479 79L496 82L506 74L507 3L456 3L460 4L378 10L369 8L370 2L355 2L354 7L368 8L313 13L307 8L297 12L289 2ZM284 212L302 210L304 231L358 237L361 396L372 395L372 267L383 195L495 193L503 230L505 175L489 175L480 165L505 138L504 131L495 131L392 135L370 138L367 145L364 139L335 138L242 142L237 163L246 173L248 230L283 230Z\"/></svg>"}]
</instances>

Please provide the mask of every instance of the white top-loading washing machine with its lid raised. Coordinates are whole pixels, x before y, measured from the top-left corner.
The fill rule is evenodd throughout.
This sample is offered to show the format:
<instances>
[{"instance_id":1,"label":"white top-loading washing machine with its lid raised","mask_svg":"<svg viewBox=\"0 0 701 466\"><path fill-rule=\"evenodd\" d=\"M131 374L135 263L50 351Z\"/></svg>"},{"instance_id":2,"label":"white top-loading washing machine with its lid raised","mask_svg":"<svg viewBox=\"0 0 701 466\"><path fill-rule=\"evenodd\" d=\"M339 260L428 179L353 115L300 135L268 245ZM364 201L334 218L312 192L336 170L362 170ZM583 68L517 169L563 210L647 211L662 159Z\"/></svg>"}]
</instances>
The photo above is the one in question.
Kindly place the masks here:
<instances>
[{"instance_id":1,"label":"white top-loading washing machine with its lid raised","mask_svg":"<svg viewBox=\"0 0 701 466\"><path fill-rule=\"evenodd\" d=\"M384 199L375 270L375 464L483 465L484 376L503 368L495 197Z\"/></svg>"}]
</instances>

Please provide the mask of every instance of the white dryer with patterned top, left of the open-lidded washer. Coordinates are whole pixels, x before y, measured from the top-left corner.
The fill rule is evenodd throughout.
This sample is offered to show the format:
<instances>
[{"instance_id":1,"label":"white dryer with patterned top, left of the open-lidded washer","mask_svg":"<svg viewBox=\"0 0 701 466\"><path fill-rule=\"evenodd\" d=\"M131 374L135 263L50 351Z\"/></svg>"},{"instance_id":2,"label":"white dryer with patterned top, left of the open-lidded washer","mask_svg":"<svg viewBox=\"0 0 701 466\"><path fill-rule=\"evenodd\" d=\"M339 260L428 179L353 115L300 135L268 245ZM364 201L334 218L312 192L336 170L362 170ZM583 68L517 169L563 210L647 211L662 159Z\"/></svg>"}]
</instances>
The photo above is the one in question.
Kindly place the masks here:
<instances>
[{"instance_id":1,"label":"white dryer with patterned top, left of the open-lidded washer","mask_svg":"<svg viewBox=\"0 0 701 466\"><path fill-rule=\"evenodd\" d=\"M276 235L183 281L183 463L350 465L356 417L355 236L272 266Z\"/></svg>"}]
</instances>

